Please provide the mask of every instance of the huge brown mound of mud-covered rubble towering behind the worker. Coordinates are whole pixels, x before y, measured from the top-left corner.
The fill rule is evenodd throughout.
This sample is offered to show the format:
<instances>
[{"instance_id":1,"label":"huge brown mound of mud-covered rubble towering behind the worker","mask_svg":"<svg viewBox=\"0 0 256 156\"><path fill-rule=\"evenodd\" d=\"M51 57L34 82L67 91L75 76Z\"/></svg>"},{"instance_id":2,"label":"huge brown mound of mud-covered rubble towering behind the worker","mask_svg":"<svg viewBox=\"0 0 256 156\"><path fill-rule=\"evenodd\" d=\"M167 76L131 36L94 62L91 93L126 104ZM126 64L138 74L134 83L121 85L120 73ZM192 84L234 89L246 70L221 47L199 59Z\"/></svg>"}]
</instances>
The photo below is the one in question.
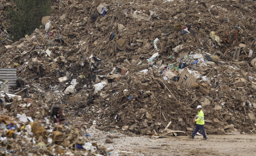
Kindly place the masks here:
<instances>
[{"instance_id":1,"label":"huge brown mound of mud-covered rubble towering behind the worker","mask_svg":"<svg viewBox=\"0 0 256 156\"><path fill-rule=\"evenodd\" d=\"M3 49L14 89L106 131L156 134L171 121L190 133L200 104L207 133L256 132L254 2L52 4L44 26Z\"/></svg>"}]
</instances>

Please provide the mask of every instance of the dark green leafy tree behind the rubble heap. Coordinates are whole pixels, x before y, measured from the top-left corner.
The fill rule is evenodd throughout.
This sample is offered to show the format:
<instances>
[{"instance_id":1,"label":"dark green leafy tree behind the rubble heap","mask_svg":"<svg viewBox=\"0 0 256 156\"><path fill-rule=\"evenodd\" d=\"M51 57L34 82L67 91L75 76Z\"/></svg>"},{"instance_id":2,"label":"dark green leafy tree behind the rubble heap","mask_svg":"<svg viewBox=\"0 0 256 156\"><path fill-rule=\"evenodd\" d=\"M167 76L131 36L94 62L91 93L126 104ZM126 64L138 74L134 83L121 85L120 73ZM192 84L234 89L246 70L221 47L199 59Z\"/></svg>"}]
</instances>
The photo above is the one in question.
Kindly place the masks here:
<instances>
[{"instance_id":1,"label":"dark green leafy tree behind the rubble heap","mask_svg":"<svg viewBox=\"0 0 256 156\"><path fill-rule=\"evenodd\" d=\"M49 0L15 0L16 7L9 8L11 39L19 40L42 25L42 17L50 15Z\"/></svg>"}]
</instances>

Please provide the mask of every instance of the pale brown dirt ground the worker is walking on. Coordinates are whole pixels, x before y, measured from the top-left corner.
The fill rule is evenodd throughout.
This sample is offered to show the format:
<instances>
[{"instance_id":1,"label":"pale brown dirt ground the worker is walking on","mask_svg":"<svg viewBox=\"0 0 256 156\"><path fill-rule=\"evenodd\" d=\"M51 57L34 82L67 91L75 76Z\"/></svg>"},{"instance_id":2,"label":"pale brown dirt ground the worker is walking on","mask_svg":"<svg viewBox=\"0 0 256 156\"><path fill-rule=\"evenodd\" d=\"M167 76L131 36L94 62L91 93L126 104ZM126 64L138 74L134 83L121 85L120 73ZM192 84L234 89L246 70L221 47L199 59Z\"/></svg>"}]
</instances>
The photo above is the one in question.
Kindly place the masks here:
<instances>
[{"instance_id":1,"label":"pale brown dirt ground the worker is walking on","mask_svg":"<svg viewBox=\"0 0 256 156\"><path fill-rule=\"evenodd\" d=\"M208 140L202 141L203 136L199 135L194 139L188 136L150 138L92 128L83 131L90 133L92 139L99 143L104 143L109 135L119 137L113 138L111 144L104 143L106 147L115 148L119 156L253 156L256 152L256 135L249 134L207 135Z\"/></svg>"}]
</instances>

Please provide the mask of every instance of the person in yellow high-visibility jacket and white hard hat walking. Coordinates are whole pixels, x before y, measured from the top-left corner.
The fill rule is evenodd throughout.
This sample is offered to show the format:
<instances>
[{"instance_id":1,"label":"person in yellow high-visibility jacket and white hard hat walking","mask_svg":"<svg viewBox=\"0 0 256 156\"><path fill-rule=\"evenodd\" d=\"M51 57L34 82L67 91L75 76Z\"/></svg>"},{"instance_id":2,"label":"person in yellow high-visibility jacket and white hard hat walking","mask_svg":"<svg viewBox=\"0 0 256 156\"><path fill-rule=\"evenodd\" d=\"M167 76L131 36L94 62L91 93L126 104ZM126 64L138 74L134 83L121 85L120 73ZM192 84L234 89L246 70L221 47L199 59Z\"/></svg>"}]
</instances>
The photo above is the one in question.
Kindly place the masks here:
<instances>
[{"instance_id":1,"label":"person in yellow high-visibility jacket and white hard hat walking","mask_svg":"<svg viewBox=\"0 0 256 156\"><path fill-rule=\"evenodd\" d=\"M203 134L204 138L202 140L207 140L206 134L205 134L205 129L204 129L204 124L205 124L205 119L204 119L204 113L202 111L202 106L198 105L196 107L197 109L197 119L193 120L193 122L196 122L196 126L194 129L194 132L190 138L194 138L195 134L200 130L201 133Z\"/></svg>"}]
</instances>

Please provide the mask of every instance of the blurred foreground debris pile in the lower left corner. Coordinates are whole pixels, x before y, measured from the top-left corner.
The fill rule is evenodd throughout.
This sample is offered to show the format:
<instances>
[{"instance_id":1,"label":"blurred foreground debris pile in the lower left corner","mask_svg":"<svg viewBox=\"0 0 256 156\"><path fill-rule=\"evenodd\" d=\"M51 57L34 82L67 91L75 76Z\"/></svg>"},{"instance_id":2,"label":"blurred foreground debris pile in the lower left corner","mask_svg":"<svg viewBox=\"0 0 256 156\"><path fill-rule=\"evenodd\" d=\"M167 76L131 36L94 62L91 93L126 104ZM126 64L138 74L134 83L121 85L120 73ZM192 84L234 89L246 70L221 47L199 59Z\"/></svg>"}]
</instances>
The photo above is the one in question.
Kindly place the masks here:
<instances>
[{"instance_id":1,"label":"blurred foreground debris pile in the lower left corner","mask_svg":"<svg viewBox=\"0 0 256 156\"><path fill-rule=\"evenodd\" d=\"M2 155L110 155L116 153L91 141L72 126L59 105L1 92Z\"/></svg>"}]
</instances>

